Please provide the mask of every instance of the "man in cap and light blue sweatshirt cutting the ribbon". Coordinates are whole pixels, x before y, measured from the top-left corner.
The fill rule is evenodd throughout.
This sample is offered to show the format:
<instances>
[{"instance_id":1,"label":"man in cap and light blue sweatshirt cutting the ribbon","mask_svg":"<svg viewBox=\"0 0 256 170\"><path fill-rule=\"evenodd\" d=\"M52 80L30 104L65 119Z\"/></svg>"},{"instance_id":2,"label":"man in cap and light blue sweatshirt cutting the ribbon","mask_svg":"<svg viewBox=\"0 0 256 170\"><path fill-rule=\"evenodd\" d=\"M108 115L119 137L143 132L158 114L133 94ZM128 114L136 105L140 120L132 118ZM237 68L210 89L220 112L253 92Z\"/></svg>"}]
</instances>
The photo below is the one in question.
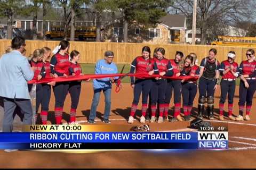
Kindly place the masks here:
<instances>
[{"instance_id":1,"label":"man in cap and light blue sweatshirt cutting the ribbon","mask_svg":"<svg viewBox=\"0 0 256 170\"><path fill-rule=\"evenodd\" d=\"M111 51L105 52L105 58L99 60L95 65L95 74L116 74L117 66L113 62L114 53ZM100 100L100 92L103 91L105 95L105 111L103 116L103 122L110 123L109 121L109 114L110 114L110 107L111 107L111 83L116 82L118 77L112 78L102 78L102 79L94 79L93 80L93 100L91 105L91 112L89 116L89 123L95 123L94 119L96 117L97 106Z\"/></svg>"}]
</instances>

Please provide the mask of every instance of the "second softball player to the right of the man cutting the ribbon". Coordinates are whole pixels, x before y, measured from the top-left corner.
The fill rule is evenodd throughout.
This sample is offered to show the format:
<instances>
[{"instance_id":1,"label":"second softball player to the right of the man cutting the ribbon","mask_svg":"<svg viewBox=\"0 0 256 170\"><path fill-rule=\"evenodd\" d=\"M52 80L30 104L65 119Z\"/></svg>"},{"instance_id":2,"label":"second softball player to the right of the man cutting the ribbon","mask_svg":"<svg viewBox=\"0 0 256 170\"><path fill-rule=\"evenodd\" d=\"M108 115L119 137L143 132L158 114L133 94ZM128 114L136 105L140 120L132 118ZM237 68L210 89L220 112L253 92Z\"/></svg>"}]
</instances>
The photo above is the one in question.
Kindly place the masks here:
<instances>
[{"instance_id":1,"label":"second softball player to the right of the man cutting the ribbon","mask_svg":"<svg viewBox=\"0 0 256 170\"><path fill-rule=\"evenodd\" d=\"M154 73L161 76L173 75L172 66L169 60L164 57L165 49L158 48L156 50L156 57L154 58ZM153 79L153 85L150 91L151 96L151 120L153 123L156 121L156 104L159 105L159 117L157 123L163 122L164 114L164 97L167 86L167 80L163 78Z\"/></svg>"}]
</instances>

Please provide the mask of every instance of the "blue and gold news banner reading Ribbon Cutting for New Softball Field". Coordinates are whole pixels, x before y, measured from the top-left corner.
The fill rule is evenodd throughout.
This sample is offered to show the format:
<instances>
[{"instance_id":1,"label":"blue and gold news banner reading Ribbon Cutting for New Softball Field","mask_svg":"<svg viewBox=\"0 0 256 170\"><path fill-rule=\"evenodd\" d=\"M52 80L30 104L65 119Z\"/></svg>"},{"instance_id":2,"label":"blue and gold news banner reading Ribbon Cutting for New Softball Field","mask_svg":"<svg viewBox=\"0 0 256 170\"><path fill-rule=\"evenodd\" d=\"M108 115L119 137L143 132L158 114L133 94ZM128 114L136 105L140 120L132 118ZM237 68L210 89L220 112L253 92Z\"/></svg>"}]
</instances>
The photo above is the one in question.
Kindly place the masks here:
<instances>
[{"instance_id":1,"label":"blue and gold news banner reading Ribbon Cutting for New Softball Field","mask_svg":"<svg viewBox=\"0 0 256 170\"><path fill-rule=\"evenodd\" d=\"M228 149L226 126L195 132L131 132L131 125L27 125L0 133L0 149Z\"/></svg>"}]
</instances>

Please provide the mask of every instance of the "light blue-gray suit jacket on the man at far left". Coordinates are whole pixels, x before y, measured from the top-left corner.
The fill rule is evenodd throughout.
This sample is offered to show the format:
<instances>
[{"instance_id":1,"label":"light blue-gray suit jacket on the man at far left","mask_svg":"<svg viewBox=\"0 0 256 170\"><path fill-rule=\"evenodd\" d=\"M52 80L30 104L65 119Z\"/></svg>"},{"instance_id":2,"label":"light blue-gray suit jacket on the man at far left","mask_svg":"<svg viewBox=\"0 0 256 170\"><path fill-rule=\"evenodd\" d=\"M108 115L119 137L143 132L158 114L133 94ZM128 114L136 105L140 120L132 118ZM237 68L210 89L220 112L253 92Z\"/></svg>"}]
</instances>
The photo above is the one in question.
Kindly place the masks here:
<instances>
[{"instance_id":1,"label":"light blue-gray suit jacket on the man at far left","mask_svg":"<svg viewBox=\"0 0 256 170\"><path fill-rule=\"evenodd\" d=\"M0 58L0 96L30 99L27 81L33 77L34 72L30 69L27 58L18 50Z\"/></svg>"}]
</instances>

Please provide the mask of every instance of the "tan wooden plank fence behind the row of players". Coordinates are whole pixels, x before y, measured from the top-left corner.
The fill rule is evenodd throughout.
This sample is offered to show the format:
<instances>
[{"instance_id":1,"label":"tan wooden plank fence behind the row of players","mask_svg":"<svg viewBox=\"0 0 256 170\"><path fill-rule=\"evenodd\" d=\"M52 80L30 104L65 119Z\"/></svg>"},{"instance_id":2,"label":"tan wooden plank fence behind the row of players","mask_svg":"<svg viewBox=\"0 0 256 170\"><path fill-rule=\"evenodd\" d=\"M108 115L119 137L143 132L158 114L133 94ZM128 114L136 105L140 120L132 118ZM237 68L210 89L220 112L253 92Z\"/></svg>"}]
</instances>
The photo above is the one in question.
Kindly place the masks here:
<instances>
[{"instance_id":1,"label":"tan wooden plank fence behind the row of players","mask_svg":"<svg viewBox=\"0 0 256 170\"><path fill-rule=\"evenodd\" d=\"M47 46L53 49L59 44L59 41L43 41L43 40L26 40L26 56L33 53L37 48ZM7 46L11 45L11 40L0 40L0 55L5 53ZM174 44L136 44L136 43L97 43L97 42L77 42L70 41L70 49L76 49L81 53L80 63L95 63L103 58L106 50L112 50L115 54L115 63L131 63L134 57L141 55L143 46L149 46L153 53L156 47L165 48L166 58L174 58L177 50L185 55L196 53L199 62L205 57L211 48L217 49L217 58L221 62L227 59L227 53L230 50L236 52L236 62L240 63L246 59L245 53L248 47L231 47L231 46L206 46L206 45L174 45ZM255 49L254 49L255 50Z\"/></svg>"}]
</instances>

